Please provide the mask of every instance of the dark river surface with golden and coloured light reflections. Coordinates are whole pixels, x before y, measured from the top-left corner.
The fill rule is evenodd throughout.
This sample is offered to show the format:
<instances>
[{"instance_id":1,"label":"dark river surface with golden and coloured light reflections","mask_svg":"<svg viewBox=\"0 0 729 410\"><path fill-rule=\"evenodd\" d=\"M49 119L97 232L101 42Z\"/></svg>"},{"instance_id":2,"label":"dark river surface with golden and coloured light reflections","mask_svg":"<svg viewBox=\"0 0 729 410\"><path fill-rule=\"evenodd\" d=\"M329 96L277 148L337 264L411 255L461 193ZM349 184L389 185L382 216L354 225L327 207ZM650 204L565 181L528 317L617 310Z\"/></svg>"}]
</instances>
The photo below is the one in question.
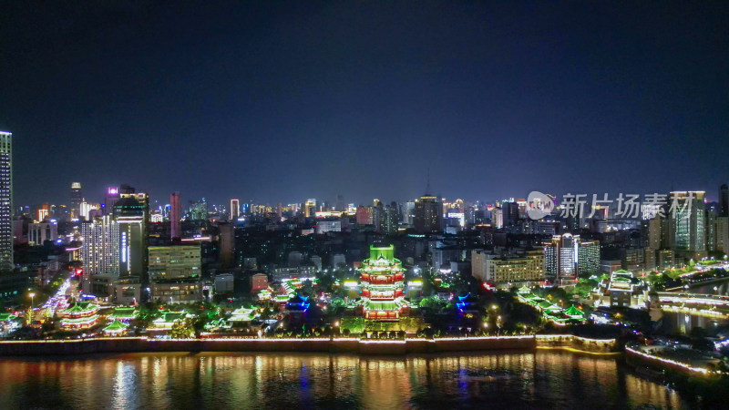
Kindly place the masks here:
<instances>
[{"instance_id":1,"label":"dark river surface with golden and coloured light reflections","mask_svg":"<svg viewBox=\"0 0 729 410\"><path fill-rule=\"evenodd\" d=\"M0 408L628 408L690 405L612 358L122 354L0 359Z\"/></svg>"}]
</instances>

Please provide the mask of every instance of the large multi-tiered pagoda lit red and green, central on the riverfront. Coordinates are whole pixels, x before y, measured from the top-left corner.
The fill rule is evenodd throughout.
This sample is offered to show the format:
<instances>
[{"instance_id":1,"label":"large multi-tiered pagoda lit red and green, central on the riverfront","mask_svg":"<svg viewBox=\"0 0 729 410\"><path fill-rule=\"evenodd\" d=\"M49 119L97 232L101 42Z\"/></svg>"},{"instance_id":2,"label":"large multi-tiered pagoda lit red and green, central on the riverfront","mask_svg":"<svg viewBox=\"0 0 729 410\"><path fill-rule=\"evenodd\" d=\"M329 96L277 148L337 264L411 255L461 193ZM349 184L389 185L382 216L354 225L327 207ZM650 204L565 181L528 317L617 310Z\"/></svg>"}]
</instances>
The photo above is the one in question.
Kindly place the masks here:
<instances>
[{"instance_id":1,"label":"large multi-tiered pagoda lit red and green, central on the riverfront","mask_svg":"<svg viewBox=\"0 0 729 410\"><path fill-rule=\"evenodd\" d=\"M360 285L364 319L399 321L408 308L405 296L405 271L395 259L395 246L370 245L370 257L362 261Z\"/></svg>"}]
</instances>

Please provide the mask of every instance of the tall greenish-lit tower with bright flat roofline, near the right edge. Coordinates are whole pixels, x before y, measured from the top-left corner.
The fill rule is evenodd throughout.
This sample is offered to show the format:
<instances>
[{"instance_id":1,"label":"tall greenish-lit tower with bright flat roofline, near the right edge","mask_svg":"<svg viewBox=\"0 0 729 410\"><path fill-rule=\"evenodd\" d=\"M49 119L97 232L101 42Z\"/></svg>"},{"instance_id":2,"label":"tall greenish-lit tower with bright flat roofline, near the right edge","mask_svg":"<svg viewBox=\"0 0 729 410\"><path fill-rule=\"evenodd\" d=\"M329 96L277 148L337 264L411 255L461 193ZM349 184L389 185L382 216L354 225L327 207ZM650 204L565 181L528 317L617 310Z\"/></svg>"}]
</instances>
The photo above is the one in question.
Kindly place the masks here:
<instances>
[{"instance_id":1,"label":"tall greenish-lit tower with bright flat roofline, near the right edge","mask_svg":"<svg viewBox=\"0 0 729 410\"><path fill-rule=\"evenodd\" d=\"M706 214L703 191L673 191L669 233L673 251L696 261L706 256Z\"/></svg>"}]
</instances>

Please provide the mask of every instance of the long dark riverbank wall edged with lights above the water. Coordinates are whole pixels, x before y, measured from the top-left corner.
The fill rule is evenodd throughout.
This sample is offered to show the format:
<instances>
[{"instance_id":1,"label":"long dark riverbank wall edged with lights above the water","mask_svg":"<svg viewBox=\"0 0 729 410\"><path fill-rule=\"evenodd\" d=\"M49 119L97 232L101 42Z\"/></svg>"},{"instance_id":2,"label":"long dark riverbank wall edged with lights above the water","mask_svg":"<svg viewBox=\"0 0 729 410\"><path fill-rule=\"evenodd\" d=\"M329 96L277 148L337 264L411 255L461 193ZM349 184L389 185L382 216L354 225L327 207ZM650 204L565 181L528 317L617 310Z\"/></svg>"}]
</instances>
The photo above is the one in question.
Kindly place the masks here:
<instances>
[{"instance_id":1,"label":"long dark riverbank wall edged with lights above the water","mask_svg":"<svg viewBox=\"0 0 729 410\"><path fill-rule=\"evenodd\" d=\"M154 352L319 352L352 354L425 354L489 350L531 351L556 348L586 353L615 352L615 339L588 339L569 334L435 339L156 339L108 337L80 340L2 341L2 356L74 355Z\"/></svg>"}]
</instances>

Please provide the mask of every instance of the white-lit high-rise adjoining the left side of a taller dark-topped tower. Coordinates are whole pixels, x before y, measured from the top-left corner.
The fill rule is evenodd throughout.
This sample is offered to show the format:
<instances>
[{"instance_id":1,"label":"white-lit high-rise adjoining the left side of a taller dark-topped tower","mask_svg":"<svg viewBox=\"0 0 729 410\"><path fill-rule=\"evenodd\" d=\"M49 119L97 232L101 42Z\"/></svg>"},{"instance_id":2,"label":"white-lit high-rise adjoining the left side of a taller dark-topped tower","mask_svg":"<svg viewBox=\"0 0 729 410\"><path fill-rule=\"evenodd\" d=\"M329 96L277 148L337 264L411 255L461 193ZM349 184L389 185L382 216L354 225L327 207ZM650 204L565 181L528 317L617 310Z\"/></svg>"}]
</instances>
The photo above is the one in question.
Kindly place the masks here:
<instances>
[{"instance_id":1,"label":"white-lit high-rise adjoining the left side of a taller dark-topped tower","mask_svg":"<svg viewBox=\"0 0 729 410\"><path fill-rule=\"evenodd\" d=\"M81 224L81 261L84 266L84 290L91 288L91 280L97 275L118 278L119 275L119 225L111 216L96 218Z\"/></svg>"}]
</instances>

